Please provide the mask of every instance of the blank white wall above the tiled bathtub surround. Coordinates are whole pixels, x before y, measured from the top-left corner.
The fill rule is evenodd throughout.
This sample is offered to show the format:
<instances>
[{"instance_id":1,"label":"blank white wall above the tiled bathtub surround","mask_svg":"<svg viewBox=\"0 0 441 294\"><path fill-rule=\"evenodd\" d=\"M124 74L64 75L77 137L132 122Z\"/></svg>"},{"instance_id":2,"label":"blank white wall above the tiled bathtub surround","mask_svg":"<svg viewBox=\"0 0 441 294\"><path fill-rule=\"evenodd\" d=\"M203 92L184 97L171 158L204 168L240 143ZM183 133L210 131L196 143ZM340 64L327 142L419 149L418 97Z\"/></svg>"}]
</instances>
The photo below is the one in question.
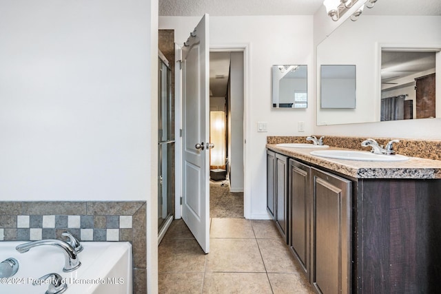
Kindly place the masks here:
<instances>
[{"instance_id":1,"label":"blank white wall above the tiled bathtub surround","mask_svg":"<svg viewBox=\"0 0 441 294\"><path fill-rule=\"evenodd\" d=\"M2 200L145 200L150 3L0 1Z\"/></svg>"}]
</instances>

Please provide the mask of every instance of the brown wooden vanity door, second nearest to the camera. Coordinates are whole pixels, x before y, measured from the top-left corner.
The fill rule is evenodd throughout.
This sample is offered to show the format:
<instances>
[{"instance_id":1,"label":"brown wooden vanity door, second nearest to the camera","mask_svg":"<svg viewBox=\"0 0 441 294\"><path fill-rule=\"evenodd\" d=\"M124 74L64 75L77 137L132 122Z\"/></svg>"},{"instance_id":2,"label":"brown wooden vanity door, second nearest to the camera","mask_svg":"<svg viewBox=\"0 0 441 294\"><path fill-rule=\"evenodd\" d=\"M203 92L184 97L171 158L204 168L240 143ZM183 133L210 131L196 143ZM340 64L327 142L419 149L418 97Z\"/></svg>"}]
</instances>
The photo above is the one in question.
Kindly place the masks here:
<instances>
[{"instance_id":1,"label":"brown wooden vanity door, second nearest to the camera","mask_svg":"<svg viewBox=\"0 0 441 294\"><path fill-rule=\"evenodd\" d=\"M310 279L310 167L289 159L289 247Z\"/></svg>"}]
</instances>

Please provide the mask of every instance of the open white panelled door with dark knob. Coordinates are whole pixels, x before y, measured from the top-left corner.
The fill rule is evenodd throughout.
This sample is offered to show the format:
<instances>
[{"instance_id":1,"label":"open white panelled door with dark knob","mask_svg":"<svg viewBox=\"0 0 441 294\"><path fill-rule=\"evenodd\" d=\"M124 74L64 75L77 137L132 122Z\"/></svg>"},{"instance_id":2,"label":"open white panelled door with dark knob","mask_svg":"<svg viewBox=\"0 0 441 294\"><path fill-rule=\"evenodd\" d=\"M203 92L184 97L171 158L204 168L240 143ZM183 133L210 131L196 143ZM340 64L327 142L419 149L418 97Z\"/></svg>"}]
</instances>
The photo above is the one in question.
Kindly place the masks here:
<instances>
[{"instance_id":1,"label":"open white panelled door with dark knob","mask_svg":"<svg viewBox=\"0 0 441 294\"><path fill-rule=\"evenodd\" d=\"M182 218L209 252L209 40L205 14L182 48Z\"/></svg>"}]
</instances>

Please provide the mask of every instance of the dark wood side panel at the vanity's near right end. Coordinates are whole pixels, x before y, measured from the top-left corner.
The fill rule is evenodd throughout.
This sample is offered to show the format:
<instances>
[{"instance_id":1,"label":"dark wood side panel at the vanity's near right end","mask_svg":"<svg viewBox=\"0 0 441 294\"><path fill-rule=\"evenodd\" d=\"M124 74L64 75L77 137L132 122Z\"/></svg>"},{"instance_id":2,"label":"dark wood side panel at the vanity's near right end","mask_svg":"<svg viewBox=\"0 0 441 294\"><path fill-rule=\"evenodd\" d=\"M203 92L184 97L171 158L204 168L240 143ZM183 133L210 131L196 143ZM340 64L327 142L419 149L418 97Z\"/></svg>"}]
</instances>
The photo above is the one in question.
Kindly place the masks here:
<instances>
[{"instance_id":1,"label":"dark wood side panel at the vanity's near right end","mask_svg":"<svg viewBox=\"0 0 441 294\"><path fill-rule=\"evenodd\" d=\"M357 184L353 293L440 293L441 180Z\"/></svg>"}]
</instances>

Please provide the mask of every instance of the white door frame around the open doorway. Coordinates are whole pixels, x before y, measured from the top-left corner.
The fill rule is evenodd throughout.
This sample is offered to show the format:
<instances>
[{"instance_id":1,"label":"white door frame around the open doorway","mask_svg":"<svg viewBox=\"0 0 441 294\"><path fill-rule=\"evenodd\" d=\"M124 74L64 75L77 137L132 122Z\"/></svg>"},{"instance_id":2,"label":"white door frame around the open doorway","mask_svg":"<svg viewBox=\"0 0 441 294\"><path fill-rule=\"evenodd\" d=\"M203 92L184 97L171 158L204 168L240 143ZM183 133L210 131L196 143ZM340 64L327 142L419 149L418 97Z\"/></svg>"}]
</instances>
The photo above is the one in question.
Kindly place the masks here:
<instances>
[{"instance_id":1,"label":"white door frame around the open doorway","mask_svg":"<svg viewBox=\"0 0 441 294\"><path fill-rule=\"evenodd\" d=\"M251 169L247 168L247 154L251 153L247 141L249 141L249 136L251 134L251 123L249 114L249 76L250 76L250 45L249 43L233 43L233 44L218 44L210 45L209 52L243 52L243 138L245 140L243 147L243 216L250 219L252 216L252 199L251 199ZM178 57L178 49L176 47L175 51L176 61L180 60ZM178 66L178 65L177 65ZM178 79L179 77L179 79ZM176 134L178 135L179 129L182 129L182 105L181 105L181 76L176 74L175 77L175 124L176 124ZM178 145L182 143L181 136L175 136L176 138L176 149ZM179 141L179 142L178 142ZM182 195L182 179L178 175L181 175L182 171L182 157L181 154L175 154L175 174L176 174L176 200L175 200L175 218L181 218L182 216L182 206L179 204L181 202Z\"/></svg>"}]
</instances>

